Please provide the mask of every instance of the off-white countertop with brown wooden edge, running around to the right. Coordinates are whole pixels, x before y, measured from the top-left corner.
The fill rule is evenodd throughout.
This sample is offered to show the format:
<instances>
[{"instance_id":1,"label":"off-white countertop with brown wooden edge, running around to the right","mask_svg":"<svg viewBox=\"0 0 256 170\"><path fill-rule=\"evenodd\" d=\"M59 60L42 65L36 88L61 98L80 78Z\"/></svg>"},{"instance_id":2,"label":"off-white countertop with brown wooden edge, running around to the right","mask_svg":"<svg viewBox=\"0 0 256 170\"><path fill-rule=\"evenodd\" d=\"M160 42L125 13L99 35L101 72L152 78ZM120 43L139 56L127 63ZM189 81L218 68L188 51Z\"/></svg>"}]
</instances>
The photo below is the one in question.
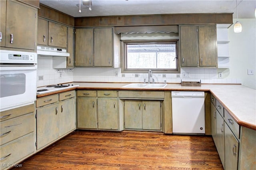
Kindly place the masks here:
<instances>
[{"instance_id":1,"label":"off-white countertop with brown wooden edge, running around to the right","mask_svg":"<svg viewBox=\"0 0 256 170\"><path fill-rule=\"evenodd\" d=\"M256 130L256 90L243 85L202 84L201 87L168 83L165 88L124 88L130 83L80 83L76 89L156 90L156 91L210 91L239 125ZM60 91L58 92L60 93ZM49 94L48 94L49 95ZM38 97L41 97L38 95Z\"/></svg>"}]
</instances>

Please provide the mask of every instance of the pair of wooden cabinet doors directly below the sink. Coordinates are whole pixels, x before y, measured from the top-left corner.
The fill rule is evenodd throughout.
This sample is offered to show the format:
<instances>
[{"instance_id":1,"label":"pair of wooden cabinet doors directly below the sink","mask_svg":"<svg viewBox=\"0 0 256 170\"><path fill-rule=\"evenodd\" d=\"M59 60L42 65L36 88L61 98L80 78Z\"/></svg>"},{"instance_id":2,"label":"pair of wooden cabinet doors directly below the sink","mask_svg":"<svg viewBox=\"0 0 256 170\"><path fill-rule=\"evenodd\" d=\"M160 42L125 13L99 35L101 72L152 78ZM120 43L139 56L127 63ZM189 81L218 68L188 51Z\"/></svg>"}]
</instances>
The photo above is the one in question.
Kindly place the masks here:
<instances>
[{"instance_id":1,"label":"pair of wooden cabinet doors directly below the sink","mask_svg":"<svg viewBox=\"0 0 256 170\"><path fill-rule=\"evenodd\" d=\"M161 130L161 101L125 100L125 129Z\"/></svg>"}]
</instances>

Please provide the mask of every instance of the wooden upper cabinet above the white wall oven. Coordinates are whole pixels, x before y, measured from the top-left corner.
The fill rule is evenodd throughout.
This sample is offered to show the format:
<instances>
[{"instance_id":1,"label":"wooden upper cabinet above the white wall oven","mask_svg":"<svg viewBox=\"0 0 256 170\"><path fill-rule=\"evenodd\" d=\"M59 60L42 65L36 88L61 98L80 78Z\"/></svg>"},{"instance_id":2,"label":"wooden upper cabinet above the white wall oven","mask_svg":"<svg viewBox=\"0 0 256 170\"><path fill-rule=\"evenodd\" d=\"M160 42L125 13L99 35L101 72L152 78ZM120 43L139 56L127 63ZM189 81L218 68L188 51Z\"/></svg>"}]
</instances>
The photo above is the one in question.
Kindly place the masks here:
<instances>
[{"instance_id":1,"label":"wooden upper cabinet above the white wall oven","mask_svg":"<svg viewBox=\"0 0 256 170\"><path fill-rule=\"evenodd\" d=\"M36 50L37 8L1 0L1 47Z\"/></svg>"}]
</instances>

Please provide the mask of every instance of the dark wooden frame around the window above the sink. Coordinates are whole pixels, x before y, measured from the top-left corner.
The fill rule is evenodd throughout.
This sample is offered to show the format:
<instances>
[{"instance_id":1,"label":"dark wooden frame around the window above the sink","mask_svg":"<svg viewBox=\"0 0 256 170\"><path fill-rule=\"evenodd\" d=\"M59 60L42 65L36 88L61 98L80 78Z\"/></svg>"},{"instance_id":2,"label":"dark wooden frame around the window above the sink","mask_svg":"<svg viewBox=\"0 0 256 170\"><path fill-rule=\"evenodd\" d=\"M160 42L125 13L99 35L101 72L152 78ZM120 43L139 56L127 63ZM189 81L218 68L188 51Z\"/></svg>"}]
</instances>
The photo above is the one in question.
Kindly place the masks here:
<instances>
[{"instance_id":1,"label":"dark wooden frame around the window above the sink","mask_svg":"<svg viewBox=\"0 0 256 170\"><path fill-rule=\"evenodd\" d=\"M175 43L176 44L176 67L177 69L155 69L151 70L154 73L180 73L180 63L179 63L179 48L178 39L172 40L121 40L121 72L122 73L148 73L149 69L127 69L126 60L126 44L136 44L136 43Z\"/></svg>"}]
</instances>

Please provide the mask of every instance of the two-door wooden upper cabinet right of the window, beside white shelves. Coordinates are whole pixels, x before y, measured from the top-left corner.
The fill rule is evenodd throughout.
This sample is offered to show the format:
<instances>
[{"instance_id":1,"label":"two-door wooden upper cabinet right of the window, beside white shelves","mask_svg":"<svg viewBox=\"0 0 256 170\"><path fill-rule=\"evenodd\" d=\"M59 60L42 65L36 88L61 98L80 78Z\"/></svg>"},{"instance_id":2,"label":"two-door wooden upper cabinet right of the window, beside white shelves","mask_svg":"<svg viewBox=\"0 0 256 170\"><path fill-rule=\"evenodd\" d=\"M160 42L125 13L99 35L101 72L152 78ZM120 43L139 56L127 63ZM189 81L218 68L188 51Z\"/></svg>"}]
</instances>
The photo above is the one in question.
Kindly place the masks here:
<instances>
[{"instance_id":1,"label":"two-door wooden upper cabinet right of the window, beside white shelves","mask_svg":"<svg viewBox=\"0 0 256 170\"><path fill-rule=\"evenodd\" d=\"M217 67L216 26L180 26L181 67Z\"/></svg>"}]
</instances>

